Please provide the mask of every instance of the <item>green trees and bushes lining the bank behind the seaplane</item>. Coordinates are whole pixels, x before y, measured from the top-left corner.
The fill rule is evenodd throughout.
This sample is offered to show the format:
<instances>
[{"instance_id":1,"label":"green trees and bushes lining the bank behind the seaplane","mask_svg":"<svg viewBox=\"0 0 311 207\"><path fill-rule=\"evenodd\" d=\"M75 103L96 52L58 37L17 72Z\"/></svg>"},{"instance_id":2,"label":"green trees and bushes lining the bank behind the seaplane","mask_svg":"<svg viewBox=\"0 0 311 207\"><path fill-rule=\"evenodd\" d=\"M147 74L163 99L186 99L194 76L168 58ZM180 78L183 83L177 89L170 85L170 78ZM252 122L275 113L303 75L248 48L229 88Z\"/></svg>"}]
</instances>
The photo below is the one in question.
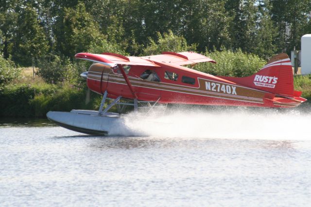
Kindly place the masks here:
<instances>
[{"instance_id":1,"label":"green trees and bushes lining the bank behind the seaplane","mask_svg":"<svg viewBox=\"0 0 311 207\"><path fill-rule=\"evenodd\" d=\"M300 37L311 33L310 0L6 0L0 4L0 103L5 109L1 113L14 116L42 116L49 107L61 108L61 99L76 102L71 108L81 107L74 105L84 96L80 73L90 63L73 60L77 52L139 56L197 50L218 63L198 64L195 69L241 77L261 68L265 63L261 58L289 53L294 47L299 50ZM10 57L22 66L38 60L39 75L62 86L3 89L20 74ZM310 97L310 77L294 80L296 89Z\"/></svg>"}]
</instances>

